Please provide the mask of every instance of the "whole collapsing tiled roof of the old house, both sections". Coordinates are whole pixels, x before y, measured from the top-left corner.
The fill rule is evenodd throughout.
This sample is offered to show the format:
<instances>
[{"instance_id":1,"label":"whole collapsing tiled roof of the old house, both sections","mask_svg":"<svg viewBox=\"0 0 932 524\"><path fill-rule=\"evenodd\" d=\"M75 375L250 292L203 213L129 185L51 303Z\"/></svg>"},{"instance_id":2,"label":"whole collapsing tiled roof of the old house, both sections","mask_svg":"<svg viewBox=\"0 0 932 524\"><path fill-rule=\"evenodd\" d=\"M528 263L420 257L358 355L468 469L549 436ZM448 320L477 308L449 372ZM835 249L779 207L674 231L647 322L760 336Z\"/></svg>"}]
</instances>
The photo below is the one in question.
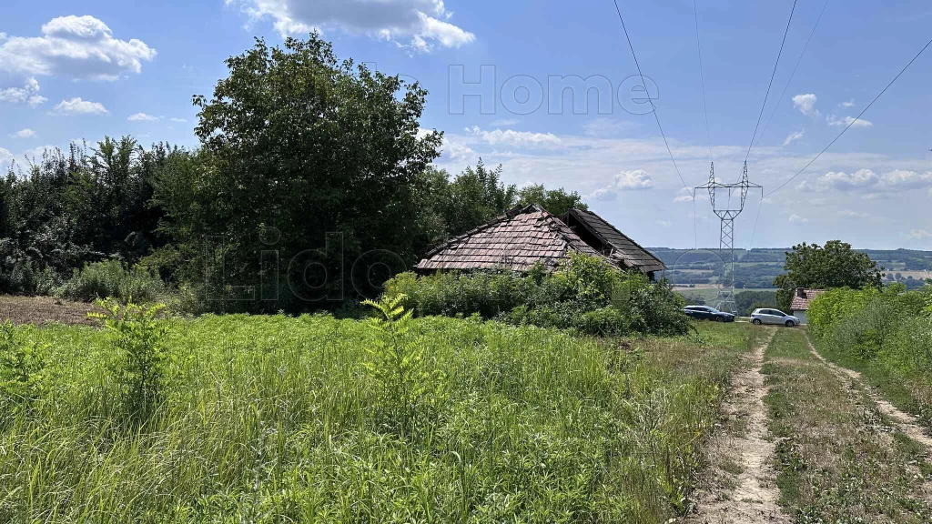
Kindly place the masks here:
<instances>
[{"instance_id":1,"label":"whole collapsing tiled roof of the old house, both sections","mask_svg":"<svg viewBox=\"0 0 932 524\"><path fill-rule=\"evenodd\" d=\"M569 259L570 252L604 258L620 268L639 269L651 276L653 271L665 269L656 257L596 214L573 210L565 220L532 204L437 247L420 261L417 269L422 272L493 268L525 271L537 263L556 269ZM588 228L581 229L583 220L588 227L594 227L597 220L604 225L599 228L604 230L607 226L610 231L604 230L602 237L596 236ZM577 224L577 227L570 228L568 224ZM614 247L616 244L619 247Z\"/></svg>"}]
</instances>

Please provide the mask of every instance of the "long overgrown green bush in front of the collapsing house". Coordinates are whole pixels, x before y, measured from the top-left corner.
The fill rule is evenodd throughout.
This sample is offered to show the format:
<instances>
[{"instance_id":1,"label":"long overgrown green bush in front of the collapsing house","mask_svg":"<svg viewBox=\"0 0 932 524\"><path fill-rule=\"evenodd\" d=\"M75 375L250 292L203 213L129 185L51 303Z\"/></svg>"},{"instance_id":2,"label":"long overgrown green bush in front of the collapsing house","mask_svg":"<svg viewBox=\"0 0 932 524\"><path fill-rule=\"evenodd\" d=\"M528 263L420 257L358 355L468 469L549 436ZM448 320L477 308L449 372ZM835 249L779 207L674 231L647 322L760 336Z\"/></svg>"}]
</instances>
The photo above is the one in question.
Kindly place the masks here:
<instances>
[{"instance_id":1,"label":"long overgrown green bush in front of the collapsing house","mask_svg":"<svg viewBox=\"0 0 932 524\"><path fill-rule=\"evenodd\" d=\"M554 272L535 266L523 274L505 269L403 273L386 284L386 296L401 295L404 308L419 316L478 314L589 335L682 335L690 325L682 298L667 283L651 283L641 273L586 255L571 255Z\"/></svg>"}]
</instances>

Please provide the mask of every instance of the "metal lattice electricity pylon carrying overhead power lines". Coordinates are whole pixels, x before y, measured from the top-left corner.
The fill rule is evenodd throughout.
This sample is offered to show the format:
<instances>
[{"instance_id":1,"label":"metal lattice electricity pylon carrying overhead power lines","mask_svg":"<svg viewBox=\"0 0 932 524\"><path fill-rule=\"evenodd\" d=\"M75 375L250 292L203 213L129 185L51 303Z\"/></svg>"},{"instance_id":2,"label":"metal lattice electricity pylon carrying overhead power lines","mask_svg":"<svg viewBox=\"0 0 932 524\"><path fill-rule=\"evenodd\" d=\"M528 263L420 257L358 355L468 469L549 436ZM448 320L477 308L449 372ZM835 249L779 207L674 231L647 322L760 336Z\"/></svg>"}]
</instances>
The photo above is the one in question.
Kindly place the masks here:
<instances>
[{"instance_id":1,"label":"metal lattice electricity pylon carrying overhead power lines","mask_svg":"<svg viewBox=\"0 0 932 524\"><path fill-rule=\"evenodd\" d=\"M719 236L719 253L728 253L728 264L726 269L731 269L732 283L727 289L720 289L719 296L716 298L716 308L722 311L733 311L734 304L734 219L745 210L745 201L747 192L751 189L761 189L761 202L763 199L763 186L752 184L747 180L747 161L745 169L741 174L741 181L736 184L722 184L715 178L715 162L712 162L712 168L708 175L708 184L698 186L695 189L707 189L708 198L712 202L712 211L721 220L721 232ZM716 193L727 191L728 199L724 202L716 199ZM695 193L693 192L693 198ZM724 195L722 195L724 196ZM738 198L733 199L733 196ZM736 203L732 203L737 200Z\"/></svg>"}]
</instances>

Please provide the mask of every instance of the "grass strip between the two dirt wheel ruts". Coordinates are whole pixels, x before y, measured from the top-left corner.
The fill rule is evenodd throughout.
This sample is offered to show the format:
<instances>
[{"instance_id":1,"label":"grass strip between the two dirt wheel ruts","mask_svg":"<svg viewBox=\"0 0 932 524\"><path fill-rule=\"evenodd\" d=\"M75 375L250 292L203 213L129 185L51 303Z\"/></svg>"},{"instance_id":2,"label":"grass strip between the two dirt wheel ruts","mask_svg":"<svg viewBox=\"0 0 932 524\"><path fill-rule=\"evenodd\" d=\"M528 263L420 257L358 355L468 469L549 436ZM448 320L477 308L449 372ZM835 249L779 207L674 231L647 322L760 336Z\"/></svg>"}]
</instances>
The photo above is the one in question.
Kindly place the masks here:
<instances>
[{"instance_id":1,"label":"grass strip between the two dirt wheel ruts","mask_svg":"<svg viewBox=\"0 0 932 524\"><path fill-rule=\"evenodd\" d=\"M818 361L802 331L779 331L765 357L788 514L805 523L932 519L928 450L885 419L857 381Z\"/></svg>"}]
</instances>

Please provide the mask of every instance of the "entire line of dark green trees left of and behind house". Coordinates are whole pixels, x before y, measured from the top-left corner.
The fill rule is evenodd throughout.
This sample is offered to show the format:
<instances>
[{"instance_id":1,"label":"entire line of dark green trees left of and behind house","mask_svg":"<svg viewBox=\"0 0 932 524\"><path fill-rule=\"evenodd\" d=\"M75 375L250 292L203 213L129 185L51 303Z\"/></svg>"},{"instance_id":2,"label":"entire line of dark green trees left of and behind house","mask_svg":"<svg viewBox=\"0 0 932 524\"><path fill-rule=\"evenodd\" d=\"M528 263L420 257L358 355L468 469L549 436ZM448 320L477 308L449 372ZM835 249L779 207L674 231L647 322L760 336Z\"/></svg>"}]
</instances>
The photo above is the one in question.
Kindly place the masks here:
<instances>
[{"instance_id":1,"label":"entire line of dark green trees left of and behind house","mask_svg":"<svg viewBox=\"0 0 932 524\"><path fill-rule=\"evenodd\" d=\"M437 169L443 133L420 127L427 91L338 60L317 34L257 39L226 65L212 96L193 98L196 148L107 137L10 168L0 291L51 293L118 260L208 309L305 310L352 295L345 266L366 254L382 254L362 269L378 281L516 206L585 207L562 188L506 185L481 160Z\"/></svg>"}]
</instances>

